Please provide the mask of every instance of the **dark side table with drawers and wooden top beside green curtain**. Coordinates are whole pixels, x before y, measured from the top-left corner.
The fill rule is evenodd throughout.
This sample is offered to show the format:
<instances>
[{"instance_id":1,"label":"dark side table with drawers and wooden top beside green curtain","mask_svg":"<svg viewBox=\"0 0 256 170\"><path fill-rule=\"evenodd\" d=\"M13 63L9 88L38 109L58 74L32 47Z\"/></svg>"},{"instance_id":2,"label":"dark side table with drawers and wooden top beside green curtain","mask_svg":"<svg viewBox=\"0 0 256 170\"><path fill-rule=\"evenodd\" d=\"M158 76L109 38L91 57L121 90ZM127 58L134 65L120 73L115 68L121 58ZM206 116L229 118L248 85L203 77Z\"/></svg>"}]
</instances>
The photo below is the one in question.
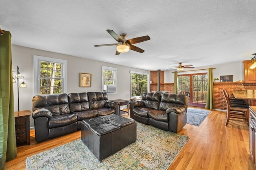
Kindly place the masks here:
<instances>
[{"instance_id":1,"label":"dark side table with drawers and wooden top beside green curtain","mask_svg":"<svg viewBox=\"0 0 256 170\"><path fill-rule=\"evenodd\" d=\"M15 134L16 145L22 145L26 143L30 145L30 132L29 132L29 116L30 110L15 111Z\"/></svg>"}]
</instances>

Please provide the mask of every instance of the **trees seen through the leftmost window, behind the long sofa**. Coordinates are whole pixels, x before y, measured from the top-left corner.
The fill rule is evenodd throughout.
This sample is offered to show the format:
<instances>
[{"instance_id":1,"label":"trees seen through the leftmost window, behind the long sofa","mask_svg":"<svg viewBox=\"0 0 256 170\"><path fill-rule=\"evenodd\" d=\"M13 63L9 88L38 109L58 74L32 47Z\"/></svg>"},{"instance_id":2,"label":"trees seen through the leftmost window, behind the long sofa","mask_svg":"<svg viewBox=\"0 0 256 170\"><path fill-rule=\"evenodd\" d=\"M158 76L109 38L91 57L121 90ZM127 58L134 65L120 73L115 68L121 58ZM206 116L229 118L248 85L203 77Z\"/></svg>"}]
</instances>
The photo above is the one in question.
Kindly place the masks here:
<instances>
[{"instance_id":1,"label":"trees seen through the leftmost window, behind the long sofa","mask_svg":"<svg viewBox=\"0 0 256 170\"><path fill-rule=\"evenodd\" d=\"M40 94L62 93L62 64L40 62Z\"/></svg>"}]
</instances>

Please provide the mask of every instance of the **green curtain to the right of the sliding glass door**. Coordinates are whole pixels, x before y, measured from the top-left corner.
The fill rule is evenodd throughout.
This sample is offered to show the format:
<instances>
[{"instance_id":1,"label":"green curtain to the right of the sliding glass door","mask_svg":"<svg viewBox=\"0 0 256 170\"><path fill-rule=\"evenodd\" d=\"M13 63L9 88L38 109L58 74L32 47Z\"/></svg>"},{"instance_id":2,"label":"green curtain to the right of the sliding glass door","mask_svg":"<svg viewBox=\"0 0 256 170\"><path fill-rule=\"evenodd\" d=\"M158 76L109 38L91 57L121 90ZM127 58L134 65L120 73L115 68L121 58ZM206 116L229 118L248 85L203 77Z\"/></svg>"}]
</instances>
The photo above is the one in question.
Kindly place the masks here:
<instances>
[{"instance_id":1,"label":"green curtain to the right of the sliding glass door","mask_svg":"<svg viewBox=\"0 0 256 170\"><path fill-rule=\"evenodd\" d=\"M206 105L204 108L206 109L216 109L214 103L214 95L213 95L213 75L212 75L213 68L208 69L208 88L207 88L207 95L206 95Z\"/></svg>"}]
</instances>

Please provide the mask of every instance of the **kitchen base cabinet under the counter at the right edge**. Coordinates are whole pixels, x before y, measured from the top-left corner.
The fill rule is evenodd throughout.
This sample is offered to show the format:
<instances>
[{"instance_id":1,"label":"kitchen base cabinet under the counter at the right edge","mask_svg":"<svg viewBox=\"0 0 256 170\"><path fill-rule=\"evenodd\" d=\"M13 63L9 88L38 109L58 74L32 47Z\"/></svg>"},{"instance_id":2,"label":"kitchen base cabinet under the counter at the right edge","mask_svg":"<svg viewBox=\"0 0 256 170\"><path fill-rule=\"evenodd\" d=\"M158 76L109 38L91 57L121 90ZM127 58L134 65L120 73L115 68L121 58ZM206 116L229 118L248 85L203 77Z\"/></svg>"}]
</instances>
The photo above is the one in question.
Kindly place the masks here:
<instances>
[{"instance_id":1,"label":"kitchen base cabinet under the counter at the right edge","mask_svg":"<svg viewBox=\"0 0 256 170\"><path fill-rule=\"evenodd\" d=\"M256 164L256 106L250 106L249 119L249 148L252 161L254 164Z\"/></svg>"}]
</instances>

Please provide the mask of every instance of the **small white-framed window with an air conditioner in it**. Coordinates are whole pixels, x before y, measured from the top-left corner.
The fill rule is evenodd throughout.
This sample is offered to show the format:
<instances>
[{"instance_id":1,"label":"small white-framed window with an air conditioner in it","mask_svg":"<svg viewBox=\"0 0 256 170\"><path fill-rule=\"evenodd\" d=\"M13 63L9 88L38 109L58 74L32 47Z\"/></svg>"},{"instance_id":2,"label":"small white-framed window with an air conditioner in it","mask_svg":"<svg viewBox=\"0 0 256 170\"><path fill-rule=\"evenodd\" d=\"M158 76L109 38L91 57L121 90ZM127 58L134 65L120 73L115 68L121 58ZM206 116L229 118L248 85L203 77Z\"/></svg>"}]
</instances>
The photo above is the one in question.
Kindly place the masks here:
<instances>
[{"instance_id":1,"label":"small white-framed window with an air conditioner in it","mask_svg":"<svg viewBox=\"0 0 256 170\"><path fill-rule=\"evenodd\" d=\"M117 68L101 66L101 75L102 75L102 83L101 89L102 92L108 92L108 86L111 86L111 92L116 92L116 75Z\"/></svg>"}]
</instances>

